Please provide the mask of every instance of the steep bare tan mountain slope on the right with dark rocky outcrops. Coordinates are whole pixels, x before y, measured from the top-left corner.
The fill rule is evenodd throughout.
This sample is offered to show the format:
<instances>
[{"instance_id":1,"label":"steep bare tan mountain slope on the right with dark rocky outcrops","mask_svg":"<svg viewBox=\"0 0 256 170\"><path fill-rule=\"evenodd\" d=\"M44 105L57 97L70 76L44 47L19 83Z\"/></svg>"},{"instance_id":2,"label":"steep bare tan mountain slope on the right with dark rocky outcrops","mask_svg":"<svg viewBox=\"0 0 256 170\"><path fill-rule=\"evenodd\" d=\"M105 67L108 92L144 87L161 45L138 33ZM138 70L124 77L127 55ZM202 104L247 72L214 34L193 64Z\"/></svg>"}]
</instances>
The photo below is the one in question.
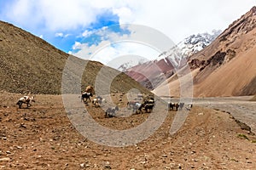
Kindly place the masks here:
<instances>
[{"instance_id":1,"label":"steep bare tan mountain slope on the right with dark rocky outcrops","mask_svg":"<svg viewBox=\"0 0 256 170\"><path fill-rule=\"evenodd\" d=\"M195 96L256 94L256 7L234 21L219 37L189 58ZM172 77L171 77L172 78ZM179 87L168 80L154 90ZM174 88L175 87L175 88Z\"/></svg>"}]
</instances>

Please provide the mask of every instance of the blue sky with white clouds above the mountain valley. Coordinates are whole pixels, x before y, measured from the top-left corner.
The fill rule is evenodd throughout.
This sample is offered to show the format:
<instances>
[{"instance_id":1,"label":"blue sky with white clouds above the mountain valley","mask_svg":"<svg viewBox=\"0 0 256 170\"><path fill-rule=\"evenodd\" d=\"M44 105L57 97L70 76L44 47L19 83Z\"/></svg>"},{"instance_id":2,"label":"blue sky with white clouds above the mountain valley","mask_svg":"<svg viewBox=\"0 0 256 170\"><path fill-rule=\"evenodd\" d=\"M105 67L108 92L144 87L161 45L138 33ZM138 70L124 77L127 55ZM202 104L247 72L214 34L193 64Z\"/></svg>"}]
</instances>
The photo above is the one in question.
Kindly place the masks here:
<instances>
[{"instance_id":1,"label":"blue sky with white clouds above the mountain valley","mask_svg":"<svg viewBox=\"0 0 256 170\"><path fill-rule=\"evenodd\" d=\"M130 36L131 30L113 25L148 26L177 43L192 34L224 30L253 5L256 0L0 0L0 20L76 54Z\"/></svg>"}]
</instances>

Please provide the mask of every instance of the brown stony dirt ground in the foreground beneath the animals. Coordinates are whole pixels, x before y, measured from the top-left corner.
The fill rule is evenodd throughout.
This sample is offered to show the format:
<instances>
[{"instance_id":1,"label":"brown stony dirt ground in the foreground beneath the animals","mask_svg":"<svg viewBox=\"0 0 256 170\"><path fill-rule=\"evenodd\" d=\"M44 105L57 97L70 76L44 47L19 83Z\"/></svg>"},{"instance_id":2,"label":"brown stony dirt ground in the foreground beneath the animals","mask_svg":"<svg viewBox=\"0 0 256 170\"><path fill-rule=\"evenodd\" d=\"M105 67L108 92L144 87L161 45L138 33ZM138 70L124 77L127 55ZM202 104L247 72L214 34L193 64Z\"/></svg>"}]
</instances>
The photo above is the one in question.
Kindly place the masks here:
<instances>
[{"instance_id":1,"label":"brown stony dirt ground in the foreground beneath the animals","mask_svg":"<svg viewBox=\"0 0 256 170\"><path fill-rule=\"evenodd\" d=\"M120 99L120 94L115 94ZM38 95L30 109L17 109L20 94L0 96L0 169L255 169L256 138L230 114L196 106L170 135L176 111L138 144L111 147L81 135L60 95ZM79 101L80 102L80 101ZM116 102L121 102L116 100ZM91 103L96 122L113 129L137 127L150 114L104 118ZM120 105L125 110L125 95ZM157 114L154 110L152 114ZM118 114L118 113L117 113Z\"/></svg>"}]
</instances>

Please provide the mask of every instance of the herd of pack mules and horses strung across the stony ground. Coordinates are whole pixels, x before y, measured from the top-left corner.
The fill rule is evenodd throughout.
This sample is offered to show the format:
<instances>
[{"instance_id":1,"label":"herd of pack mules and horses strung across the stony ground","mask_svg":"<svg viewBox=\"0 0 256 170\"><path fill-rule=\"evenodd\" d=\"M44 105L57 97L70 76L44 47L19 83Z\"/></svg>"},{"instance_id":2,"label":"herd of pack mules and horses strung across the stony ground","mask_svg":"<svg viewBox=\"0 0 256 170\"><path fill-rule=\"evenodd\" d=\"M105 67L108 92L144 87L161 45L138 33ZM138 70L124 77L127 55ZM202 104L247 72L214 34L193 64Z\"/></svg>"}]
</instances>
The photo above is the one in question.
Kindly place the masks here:
<instances>
[{"instance_id":1,"label":"herd of pack mules and horses strung across the stony ground","mask_svg":"<svg viewBox=\"0 0 256 170\"><path fill-rule=\"evenodd\" d=\"M95 106L101 106L102 102L106 99L103 99L101 96L96 96L95 99L92 101L90 100L90 97L93 97L94 94L94 88L91 86L88 86L85 88L84 93L81 94L81 102L87 103L88 100L92 102ZM138 94L138 97L142 97L141 94ZM26 104L26 108L29 108L32 106L31 102L35 102L34 96L30 97L29 95L23 96L22 98L18 99L18 102L16 105L19 105L19 108L21 108L22 104ZM154 109L155 101L153 97L147 96L142 99L142 101L139 100L133 100L127 102L127 108L132 109L132 112L135 114L140 114L146 112L151 113ZM181 111L183 110L184 103L171 103L169 102L167 104L168 111ZM189 105L189 108L191 108L192 105ZM188 109L188 108L187 108ZM105 111L105 117L114 117L116 116L115 112L119 111L119 106L116 105L114 107L108 107L108 109Z\"/></svg>"}]
</instances>

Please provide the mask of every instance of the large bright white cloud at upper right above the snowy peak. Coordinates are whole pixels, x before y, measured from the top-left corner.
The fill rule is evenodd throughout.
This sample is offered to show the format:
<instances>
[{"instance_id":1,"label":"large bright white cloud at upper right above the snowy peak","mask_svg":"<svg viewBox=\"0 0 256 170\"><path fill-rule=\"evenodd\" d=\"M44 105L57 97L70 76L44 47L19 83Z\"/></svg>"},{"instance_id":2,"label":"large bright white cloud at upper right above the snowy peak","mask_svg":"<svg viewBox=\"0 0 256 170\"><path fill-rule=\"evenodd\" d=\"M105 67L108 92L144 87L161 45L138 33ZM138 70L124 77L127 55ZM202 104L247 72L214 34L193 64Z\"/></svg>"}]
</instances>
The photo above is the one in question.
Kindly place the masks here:
<instances>
[{"instance_id":1,"label":"large bright white cloud at upper right above the snowy peak","mask_svg":"<svg viewBox=\"0 0 256 170\"><path fill-rule=\"evenodd\" d=\"M134 1L131 2L134 4ZM129 19L133 19L133 24L159 30L177 43L191 34L224 30L255 4L255 0L248 0L247 3L239 0L140 0L132 6ZM122 22L128 20L122 14L119 17Z\"/></svg>"}]
</instances>

